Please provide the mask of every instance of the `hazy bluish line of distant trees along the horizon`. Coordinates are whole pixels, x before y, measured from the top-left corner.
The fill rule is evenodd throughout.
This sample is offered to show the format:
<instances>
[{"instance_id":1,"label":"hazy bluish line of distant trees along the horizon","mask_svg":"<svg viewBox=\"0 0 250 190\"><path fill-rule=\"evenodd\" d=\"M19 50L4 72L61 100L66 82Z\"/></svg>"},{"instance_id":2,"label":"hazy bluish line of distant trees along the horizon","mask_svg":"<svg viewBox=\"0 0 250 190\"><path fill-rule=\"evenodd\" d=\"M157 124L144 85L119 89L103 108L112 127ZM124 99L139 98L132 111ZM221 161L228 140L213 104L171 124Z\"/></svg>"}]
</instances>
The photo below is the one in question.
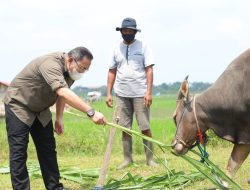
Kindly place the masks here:
<instances>
[{"instance_id":1,"label":"hazy bluish line of distant trees along the horizon","mask_svg":"<svg viewBox=\"0 0 250 190\"><path fill-rule=\"evenodd\" d=\"M180 84L181 84L180 82L174 82L174 83L162 83L160 85L154 85L153 95L154 96L175 95L180 88ZM212 85L212 83L192 82L189 85L190 85L190 91L197 93L206 90L208 87ZM91 91L99 91L102 93L103 96L106 96L107 94L107 87L105 85L96 88L77 86L73 90L81 97L86 97L87 93Z\"/></svg>"}]
</instances>

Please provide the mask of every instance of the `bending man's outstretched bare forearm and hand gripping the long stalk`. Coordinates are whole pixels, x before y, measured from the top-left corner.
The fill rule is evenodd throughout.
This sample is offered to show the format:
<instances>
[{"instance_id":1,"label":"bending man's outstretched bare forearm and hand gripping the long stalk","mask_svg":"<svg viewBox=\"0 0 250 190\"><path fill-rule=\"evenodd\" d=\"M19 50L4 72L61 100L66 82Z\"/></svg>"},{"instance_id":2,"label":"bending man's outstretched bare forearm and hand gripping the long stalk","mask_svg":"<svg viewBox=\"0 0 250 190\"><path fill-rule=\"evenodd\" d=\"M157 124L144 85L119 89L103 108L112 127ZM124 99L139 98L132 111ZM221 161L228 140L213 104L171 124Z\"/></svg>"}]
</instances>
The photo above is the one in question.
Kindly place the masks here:
<instances>
[{"instance_id":1,"label":"bending man's outstretched bare forearm and hand gripping the long stalk","mask_svg":"<svg viewBox=\"0 0 250 190\"><path fill-rule=\"evenodd\" d=\"M59 88L56 90L59 98L62 97L64 102L72 106L73 108L86 113L91 107L85 103L81 98L79 98L72 90L69 88ZM102 113L95 111L94 116L91 118L96 124L105 124L106 119Z\"/></svg>"}]
</instances>

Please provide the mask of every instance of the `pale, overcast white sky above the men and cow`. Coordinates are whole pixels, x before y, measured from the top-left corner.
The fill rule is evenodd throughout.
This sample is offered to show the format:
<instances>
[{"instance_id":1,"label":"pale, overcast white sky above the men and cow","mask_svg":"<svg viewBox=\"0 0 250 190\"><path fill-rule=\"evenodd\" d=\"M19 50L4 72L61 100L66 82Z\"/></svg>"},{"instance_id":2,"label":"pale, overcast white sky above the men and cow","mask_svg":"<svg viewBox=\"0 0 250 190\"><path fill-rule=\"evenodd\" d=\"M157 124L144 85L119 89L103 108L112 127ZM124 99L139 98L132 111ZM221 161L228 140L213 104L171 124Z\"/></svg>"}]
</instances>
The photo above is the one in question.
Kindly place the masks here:
<instances>
[{"instance_id":1,"label":"pale, overcast white sky above the men and cow","mask_svg":"<svg viewBox=\"0 0 250 190\"><path fill-rule=\"evenodd\" d=\"M132 17L154 57L154 84L214 82L250 45L249 0L8 0L0 6L0 81L32 59L85 46L94 55L75 86L106 85L115 31Z\"/></svg>"}]
</instances>

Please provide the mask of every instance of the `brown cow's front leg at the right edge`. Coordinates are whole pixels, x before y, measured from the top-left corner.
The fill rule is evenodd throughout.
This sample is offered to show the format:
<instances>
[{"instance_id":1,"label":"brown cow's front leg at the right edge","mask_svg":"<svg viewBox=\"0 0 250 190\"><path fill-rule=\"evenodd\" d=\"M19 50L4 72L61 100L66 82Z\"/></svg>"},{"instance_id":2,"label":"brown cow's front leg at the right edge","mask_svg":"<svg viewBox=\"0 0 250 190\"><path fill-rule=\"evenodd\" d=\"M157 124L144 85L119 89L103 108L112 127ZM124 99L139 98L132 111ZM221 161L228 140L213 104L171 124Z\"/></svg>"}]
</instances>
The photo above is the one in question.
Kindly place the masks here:
<instances>
[{"instance_id":1,"label":"brown cow's front leg at the right edge","mask_svg":"<svg viewBox=\"0 0 250 190\"><path fill-rule=\"evenodd\" d=\"M233 177L250 152L250 145L235 144L227 164L227 174Z\"/></svg>"}]
</instances>

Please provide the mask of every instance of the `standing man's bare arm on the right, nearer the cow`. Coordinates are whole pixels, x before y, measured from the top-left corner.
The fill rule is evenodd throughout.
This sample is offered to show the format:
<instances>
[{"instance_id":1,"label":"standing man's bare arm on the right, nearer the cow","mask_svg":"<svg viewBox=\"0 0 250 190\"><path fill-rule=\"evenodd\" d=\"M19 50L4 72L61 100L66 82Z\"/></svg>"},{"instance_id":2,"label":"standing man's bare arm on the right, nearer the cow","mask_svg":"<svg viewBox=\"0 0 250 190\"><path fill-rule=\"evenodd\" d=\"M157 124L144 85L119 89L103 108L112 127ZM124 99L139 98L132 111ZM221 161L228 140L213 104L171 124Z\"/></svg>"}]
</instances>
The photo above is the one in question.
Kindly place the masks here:
<instances>
[{"instance_id":1,"label":"standing man's bare arm on the right, nearer the cow","mask_svg":"<svg viewBox=\"0 0 250 190\"><path fill-rule=\"evenodd\" d=\"M147 77L147 92L144 96L144 104L146 107L150 107L152 104L152 88L153 88L153 65L146 67Z\"/></svg>"}]
</instances>

